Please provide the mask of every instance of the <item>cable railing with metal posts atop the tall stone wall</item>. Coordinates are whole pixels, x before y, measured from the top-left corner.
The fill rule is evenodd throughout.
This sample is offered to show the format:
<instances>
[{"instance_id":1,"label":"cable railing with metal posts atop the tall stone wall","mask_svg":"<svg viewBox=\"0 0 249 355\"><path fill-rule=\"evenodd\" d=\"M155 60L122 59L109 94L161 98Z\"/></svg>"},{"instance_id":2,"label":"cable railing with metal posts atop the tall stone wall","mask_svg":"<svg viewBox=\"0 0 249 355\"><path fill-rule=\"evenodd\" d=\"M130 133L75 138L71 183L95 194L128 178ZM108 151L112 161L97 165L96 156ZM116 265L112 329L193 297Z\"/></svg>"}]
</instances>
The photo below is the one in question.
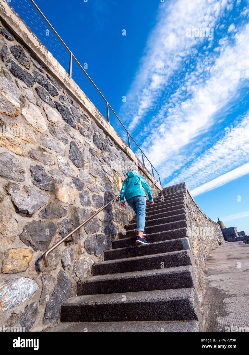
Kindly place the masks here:
<instances>
[{"instance_id":1,"label":"cable railing with metal posts atop the tall stone wall","mask_svg":"<svg viewBox=\"0 0 249 355\"><path fill-rule=\"evenodd\" d=\"M8 2L8 4L17 12L29 29L37 36L50 53L52 53L54 58L66 70L66 72L69 73L72 80L74 80L87 95L103 117L134 152L136 157L161 184L157 170L120 121L113 108L105 99L96 84L94 84L83 66L60 38L59 34L43 15L42 11L40 11L36 3L33 0L6 0L6 2Z\"/></svg>"}]
</instances>

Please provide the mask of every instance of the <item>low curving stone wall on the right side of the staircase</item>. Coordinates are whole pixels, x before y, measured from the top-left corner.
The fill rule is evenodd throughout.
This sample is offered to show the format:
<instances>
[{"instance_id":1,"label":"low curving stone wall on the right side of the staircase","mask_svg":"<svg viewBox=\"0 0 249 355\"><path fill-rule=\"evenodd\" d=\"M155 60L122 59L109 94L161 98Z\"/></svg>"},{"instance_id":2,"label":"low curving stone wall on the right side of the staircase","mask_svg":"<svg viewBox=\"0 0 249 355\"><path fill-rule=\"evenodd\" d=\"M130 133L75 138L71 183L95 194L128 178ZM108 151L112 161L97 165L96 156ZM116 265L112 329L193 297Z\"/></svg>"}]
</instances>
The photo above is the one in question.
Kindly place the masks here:
<instances>
[{"instance_id":1,"label":"low curving stone wall on the right side of the staircase","mask_svg":"<svg viewBox=\"0 0 249 355\"><path fill-rule=\"evenodd\" d=\"M221 228L212 221L195 202L186 188L188 237L192 247L199 299L202 301L204 267L207 256L213 248L224 243Z\"/></svg>"}]
</instances>

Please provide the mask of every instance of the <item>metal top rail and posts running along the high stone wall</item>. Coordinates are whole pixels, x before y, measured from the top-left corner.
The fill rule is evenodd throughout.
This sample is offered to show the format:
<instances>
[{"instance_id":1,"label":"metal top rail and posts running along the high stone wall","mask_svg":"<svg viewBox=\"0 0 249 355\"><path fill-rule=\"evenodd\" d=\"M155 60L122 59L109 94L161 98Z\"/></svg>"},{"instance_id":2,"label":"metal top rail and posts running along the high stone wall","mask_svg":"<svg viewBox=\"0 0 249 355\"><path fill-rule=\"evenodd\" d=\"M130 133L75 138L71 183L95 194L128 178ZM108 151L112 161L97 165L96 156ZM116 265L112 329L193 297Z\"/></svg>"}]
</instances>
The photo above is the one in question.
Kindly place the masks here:
<instances>
[{"instance_id":1,"label":"metal top rail and posts running along the high stone wall","mask_svg":"<svg viewBox=\"0 0 249 355\"><path fill-rule=\"evenodd\" d=\"M59 34L55 31L55 29L53 28L53 26L51 25L51 23L47 20L47 18L44 16L44 14L42 13L42 11L39 9L39 7L36 5L36 3L33 0L29 0L33 6L36 8L36 10L39 12L39 14L42 16L42 18L45 20L45 22L47 22L47 24L50 26L50 28L52 28L52 30L54 31L55 35L58 37L58 39L60 40L60 42L64 45L64 47L66 48L66 50L69 52L70 54L70 64L69 64L69 75L70 77L72 77L72 58L74 58L74 60L76 61L76 63L79 65L80 69L83 71L83 73L87 76L88 80L90 80L90 82L93 84L94 88L98 91L98 93L101 95L101 97L103 98L103 100L105 101L106 105L107 105L107 121L110 124L110 119L109 119L109 108L110 110L113 112L113 114L115 115L115 117L118 119L118 121L120 122L120 124L123 126L123 128L125 129L126 133L127 133L127 137L128 137L128 146L131 149L131 145L130 145L130 138L134 141L134 143L136 144L136 146L140 149L141 154L142 154L142 164L145 165L144 163L144 157L146 157L145 153L142 151L142 149L139 147L139 145L136 143L136 141L134 140L134 138L130 135L130 133L128 132L128 130L125 128L124 124L121 122L121 120L118 118L118 115L115 113L115 111L113 110L113 108L110 106L110 104L108 103L107 99L104 97L104 95L102 94L102 92L98 89L98 87L96 86L96 84L94 84L94 82L92 81L92 79L90 78L90 76L87 74L87 72L85 71L85 69L82 67L82 65L80 64L80 62L75 58L74 54L71 52L71 50L67 47L67 45L64 43L63 39L60 38ZM11 5L11 4L10 4ZM32 31L32 30L31 30ZM146 157L146 159L148 160L148 162L151 164L151 170L152 170L152 175L154 176L153 173L153 169L156 171L157 175L158 175L158 179L159 179L159 183L161 185L161 179L160 176L158 174L158 171L154 168L154 166L152 165L152 163L150 162L150 160Z\"/></svg>"}]
</instances>

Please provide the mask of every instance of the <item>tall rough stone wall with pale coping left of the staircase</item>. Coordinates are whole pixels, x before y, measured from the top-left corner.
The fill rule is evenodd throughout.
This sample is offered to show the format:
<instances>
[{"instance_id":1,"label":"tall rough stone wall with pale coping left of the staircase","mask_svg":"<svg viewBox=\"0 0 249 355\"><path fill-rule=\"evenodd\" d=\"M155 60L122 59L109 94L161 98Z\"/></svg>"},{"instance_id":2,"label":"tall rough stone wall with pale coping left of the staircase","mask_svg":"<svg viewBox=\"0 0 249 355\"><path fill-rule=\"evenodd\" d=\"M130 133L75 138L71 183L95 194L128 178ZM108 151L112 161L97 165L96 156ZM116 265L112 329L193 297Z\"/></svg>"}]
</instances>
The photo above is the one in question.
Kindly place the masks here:
<instances>
[{"instance_id":1,"label":"tall rough stone wall with pale coping left of the staircase","mask_svg":"<svg viewBox=\"0 0 249 355\"><path fill-rule=\"evenodd\" d=\"M132 216L129 206L115 201L99 213L50 253L49 268L44 251L118 195L130 168L155 179L71 78L57 75L56 60L42 60L43 45L28 47L37 39L8 6L1 1L0 330L41 331L102 260Z\"/></svg>"}]
</instances>

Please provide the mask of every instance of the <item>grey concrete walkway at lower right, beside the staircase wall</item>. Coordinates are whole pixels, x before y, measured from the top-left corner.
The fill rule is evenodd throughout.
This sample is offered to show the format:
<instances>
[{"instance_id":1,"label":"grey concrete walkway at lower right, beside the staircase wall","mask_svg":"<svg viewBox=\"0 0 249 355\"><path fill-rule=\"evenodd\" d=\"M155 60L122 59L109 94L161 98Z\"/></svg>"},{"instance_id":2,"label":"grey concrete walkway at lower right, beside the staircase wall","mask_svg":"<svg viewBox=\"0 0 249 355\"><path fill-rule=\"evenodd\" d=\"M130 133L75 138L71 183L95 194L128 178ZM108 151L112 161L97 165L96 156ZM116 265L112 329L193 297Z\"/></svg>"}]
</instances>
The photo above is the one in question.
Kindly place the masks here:
<instances>
[{"instance_id":1,"label":"grey concrete walkway at lower right, beside the staircase wall","mask_svg":"<svg viewBox=\"0 0 249 355\"><path fill-rule=\"evenodd\" d=\"M248 244L227 242L212 250L205 268L203 310L206 332L249 332Z\"/></svg>"}]
</instances>

